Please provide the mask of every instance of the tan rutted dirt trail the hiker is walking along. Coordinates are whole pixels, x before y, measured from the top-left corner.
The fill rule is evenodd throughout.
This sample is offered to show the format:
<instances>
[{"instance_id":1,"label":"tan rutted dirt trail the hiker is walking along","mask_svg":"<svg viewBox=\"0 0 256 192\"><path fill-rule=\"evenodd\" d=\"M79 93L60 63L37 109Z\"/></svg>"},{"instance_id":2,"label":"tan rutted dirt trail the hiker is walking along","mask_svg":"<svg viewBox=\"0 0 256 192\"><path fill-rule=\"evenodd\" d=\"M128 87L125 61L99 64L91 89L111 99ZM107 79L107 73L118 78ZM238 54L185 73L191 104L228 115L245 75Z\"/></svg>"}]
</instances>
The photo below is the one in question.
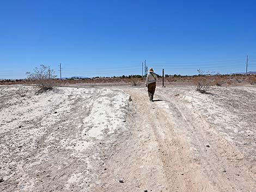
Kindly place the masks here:
<instances>
[{"instance_id":1,"label":"tan rutted dirt trail the hiker is walking along","mask_svg":"<svg viewBox=\"0 0 256 192\"><path fill-rule=\"evenodd\" d=\"M145 89L124 91L133 100L130 133L108 160L97 191L255 191L243 154L189 104L164 89L152 103Z\"/></svg>"}]
</instances>

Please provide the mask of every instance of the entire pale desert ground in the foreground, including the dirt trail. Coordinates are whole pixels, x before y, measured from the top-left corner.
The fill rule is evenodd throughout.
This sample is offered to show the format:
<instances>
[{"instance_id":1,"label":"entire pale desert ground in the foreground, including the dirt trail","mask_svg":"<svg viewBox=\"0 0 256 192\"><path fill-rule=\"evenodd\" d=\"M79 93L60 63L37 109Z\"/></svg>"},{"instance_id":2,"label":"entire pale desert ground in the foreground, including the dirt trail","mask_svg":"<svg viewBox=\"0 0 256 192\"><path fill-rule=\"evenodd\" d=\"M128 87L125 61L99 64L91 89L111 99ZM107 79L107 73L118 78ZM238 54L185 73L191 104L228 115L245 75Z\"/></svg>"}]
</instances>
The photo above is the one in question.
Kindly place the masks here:
<instances>
[{"instance_id":1,"label":"entire pale desert ground in the foreground, including the dirt trail","mask_svg":"<svg viewBox=\"0 0 256 192\"><path fill-rule=\"evenodd\" d=\"M256 191L256 86L0 86L1 191Z\"/></svg>"}]
</instances>

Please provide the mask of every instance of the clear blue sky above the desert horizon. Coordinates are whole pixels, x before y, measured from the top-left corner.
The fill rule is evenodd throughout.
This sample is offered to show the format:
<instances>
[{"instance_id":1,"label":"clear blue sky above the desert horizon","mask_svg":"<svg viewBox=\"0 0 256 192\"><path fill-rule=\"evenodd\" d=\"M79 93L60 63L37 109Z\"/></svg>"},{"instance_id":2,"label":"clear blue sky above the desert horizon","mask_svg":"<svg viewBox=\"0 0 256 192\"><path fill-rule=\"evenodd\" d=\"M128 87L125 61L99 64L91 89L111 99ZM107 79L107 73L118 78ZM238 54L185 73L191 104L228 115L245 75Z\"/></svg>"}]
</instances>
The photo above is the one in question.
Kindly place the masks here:
<instances>
[{"instance_id":1,"label":"clear blue sky above the desert horizon","mask_svg":"<svg viewBox=\"0 0 256 192\"><path fill-rule=\"evenodd\" d=\"M1 1L0 78L256 71L256 1Z\"/></svg>"}]
</instances>

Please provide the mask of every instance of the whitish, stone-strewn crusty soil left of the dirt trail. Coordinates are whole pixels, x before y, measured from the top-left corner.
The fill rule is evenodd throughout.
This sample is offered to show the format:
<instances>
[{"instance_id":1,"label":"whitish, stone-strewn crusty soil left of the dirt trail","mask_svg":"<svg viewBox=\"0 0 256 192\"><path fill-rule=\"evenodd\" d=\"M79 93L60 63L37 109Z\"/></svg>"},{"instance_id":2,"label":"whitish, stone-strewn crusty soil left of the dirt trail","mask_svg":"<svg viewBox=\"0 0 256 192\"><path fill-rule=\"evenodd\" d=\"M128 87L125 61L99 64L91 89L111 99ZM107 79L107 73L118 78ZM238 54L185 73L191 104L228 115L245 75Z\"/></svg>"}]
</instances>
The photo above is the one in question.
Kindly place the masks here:
<instances>
[{"instance_id":1,"label":"whitish, stone-strewn crusty soil left of the dirt trail","mask_svg":"<svg viewBox=\"0 0 256 192\"><path fill-rule=\"evenodd\" d=\"M127 95L105 88L40 95L29 86L0 89L0 190L92 191L113 133L126 129Z\"/></svg>"}]
</instances>

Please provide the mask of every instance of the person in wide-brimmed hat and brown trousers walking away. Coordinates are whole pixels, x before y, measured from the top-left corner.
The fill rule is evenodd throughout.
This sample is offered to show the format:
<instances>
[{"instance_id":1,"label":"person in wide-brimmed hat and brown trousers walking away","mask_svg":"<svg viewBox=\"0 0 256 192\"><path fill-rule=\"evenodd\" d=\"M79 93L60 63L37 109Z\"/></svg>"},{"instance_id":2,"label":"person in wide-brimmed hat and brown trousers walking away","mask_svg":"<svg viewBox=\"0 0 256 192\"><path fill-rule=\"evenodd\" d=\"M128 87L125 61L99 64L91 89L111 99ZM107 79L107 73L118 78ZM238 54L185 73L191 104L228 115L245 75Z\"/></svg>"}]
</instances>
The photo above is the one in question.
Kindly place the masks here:
<instances>
[{"instance_id":1,"label":"person in wide-brimmed hat and brown trousers walking away","mask_svg":"<svg viewBox=\"0 0 256 192\"><path fill-rule=\"evenodd\" d=\"M150 68L146 78L146 86L148 87L149 101L153 101L154 93L156 90L157 75L154 73L153 68Z\"/></svg>"}]
</instances>

